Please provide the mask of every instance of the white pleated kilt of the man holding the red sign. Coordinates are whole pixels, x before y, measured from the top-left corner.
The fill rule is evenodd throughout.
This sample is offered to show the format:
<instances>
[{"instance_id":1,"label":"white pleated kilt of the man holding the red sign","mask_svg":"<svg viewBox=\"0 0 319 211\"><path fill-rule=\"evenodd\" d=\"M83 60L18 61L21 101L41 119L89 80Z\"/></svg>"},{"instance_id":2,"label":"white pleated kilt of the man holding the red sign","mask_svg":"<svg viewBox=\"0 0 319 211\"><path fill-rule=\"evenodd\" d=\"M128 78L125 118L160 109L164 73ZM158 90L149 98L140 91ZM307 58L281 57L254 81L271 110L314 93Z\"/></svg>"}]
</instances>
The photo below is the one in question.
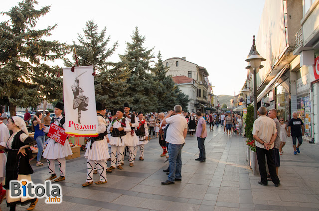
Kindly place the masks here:
<instances>
[{"instance_id":1,"label":"white pleated kilt of the man holding the red sign","mask_svg":"<svg viewBox=\"0 0 319 211\"><path fill-rule=\"evenodd\" d=\"M64 145L62 145L55 143L52 138L49 138L48 145L43 152L43 157L50 160L56 160L58 158L65 158L72 154L68 140L66 140Z\"/></svg>"}]
</instances>

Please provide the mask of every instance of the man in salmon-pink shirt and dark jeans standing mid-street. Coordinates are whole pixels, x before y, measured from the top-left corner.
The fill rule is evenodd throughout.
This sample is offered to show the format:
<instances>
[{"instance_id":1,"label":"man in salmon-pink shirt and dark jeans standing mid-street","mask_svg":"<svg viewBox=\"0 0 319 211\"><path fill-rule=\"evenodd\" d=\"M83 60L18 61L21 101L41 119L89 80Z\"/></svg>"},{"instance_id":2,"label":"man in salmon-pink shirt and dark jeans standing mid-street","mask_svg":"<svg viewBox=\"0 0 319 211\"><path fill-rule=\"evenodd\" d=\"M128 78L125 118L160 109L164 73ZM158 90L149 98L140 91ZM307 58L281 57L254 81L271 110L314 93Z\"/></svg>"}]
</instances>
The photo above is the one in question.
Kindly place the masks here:
<instances>
[{"instance_id":1,"label":"man in salmon-pink shirt and dark jeans standing mid-street","mask_svg":"<svg viewBox=\"0 0 319 211\"><path fill-rule=\"evenodd\" d=\"M198 119L196 136L197 136L197 142L198 142L198 148L199 148L199 158L196 158L195 160L198 160L200 163L203 163L203 162L206 162L206 151L205 151L205 138L207 137L206 122L204 118L201 116L200 111L196 112L196 116Z\"/></svg>"}]
</instances>

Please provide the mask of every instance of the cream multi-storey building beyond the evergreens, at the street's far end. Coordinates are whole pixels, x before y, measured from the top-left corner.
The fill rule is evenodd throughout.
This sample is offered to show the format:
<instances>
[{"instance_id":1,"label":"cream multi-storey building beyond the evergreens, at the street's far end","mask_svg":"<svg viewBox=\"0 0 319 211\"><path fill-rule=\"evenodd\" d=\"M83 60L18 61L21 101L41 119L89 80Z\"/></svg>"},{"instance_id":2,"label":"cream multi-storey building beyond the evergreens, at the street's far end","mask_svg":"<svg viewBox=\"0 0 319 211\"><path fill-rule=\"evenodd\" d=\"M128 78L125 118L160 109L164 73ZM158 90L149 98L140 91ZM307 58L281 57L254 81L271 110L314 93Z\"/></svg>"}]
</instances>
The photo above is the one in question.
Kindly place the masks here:
<instances>
[{"instance_id":1,"label":"cream multi-storey building beyond the evergreens, at the street's far end","mask_svg":"<svg viewBox=\"0 0 319 211\"><path fill-rule=\"evenodd\" d=\"M211 92L209 91L209 80L208 80L208 72L206 68L198 66L195 63L186 61L185 57L173 57L166 59L163 61L164 65L168 67L168 71L166 75L170 75L172 77L177 76L185 76L189 79L192 79L194 82L194 86L196 87L196 100L194 103L195 111L205 112L205 110L210 109L212 106L211 100L209 100L208 96L211 96ZM184 86L178 84L179 87ZM211 87L210 87L211 88ZM183 88L185 90L186 88ZM192 88L188 87L187 92L183 92L184 94L188 95L187 93L190 92ZM190 97L188 95L188 97ZM189 111L192 110L191 102L189 103Z\"/></svg>"}]
</instances>

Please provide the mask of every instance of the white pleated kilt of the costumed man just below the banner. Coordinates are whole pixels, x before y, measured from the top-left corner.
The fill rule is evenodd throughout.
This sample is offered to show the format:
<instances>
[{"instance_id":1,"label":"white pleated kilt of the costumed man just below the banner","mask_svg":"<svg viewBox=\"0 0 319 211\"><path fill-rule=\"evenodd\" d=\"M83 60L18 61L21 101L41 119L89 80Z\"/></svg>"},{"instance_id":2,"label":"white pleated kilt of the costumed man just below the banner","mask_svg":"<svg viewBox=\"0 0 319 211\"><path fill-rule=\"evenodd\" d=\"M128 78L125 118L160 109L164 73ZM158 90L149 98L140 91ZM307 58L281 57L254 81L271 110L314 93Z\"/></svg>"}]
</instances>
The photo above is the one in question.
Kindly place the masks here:
<instances>
[{"instance_id":1,"label":"white pleated kilt of the costumed man just below the banner","mask_svg":"<svg viewBox=\"0 0 319 211\"><path fill-rule=\"evenodd\" d=\"M85 158L87 158L88 160L100 161L110 158L109 148L105 137L103 140L94 141L91 149L90 146L91 141L87 143L87 148L84 154Z\"/></svg>"}]
</instances>

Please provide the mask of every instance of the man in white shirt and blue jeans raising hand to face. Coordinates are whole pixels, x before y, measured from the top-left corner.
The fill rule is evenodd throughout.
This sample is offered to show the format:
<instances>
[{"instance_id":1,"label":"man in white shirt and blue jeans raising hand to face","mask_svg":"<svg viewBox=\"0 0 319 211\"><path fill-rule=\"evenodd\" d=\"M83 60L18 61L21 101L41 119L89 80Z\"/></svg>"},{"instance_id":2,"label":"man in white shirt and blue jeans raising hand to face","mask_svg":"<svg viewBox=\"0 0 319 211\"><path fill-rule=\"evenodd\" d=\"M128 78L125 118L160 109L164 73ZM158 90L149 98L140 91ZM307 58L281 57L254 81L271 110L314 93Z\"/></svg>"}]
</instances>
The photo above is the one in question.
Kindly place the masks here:
<instances>
[{"instance_id":1,"label":"man in white shirt and blue jeans raising hand to face","mask_svg":"<svg viewBox=\"0 0 319 211\"><path fill-rule=\"evenodd\" d=\"M169 143L169 174L168 179L161 183L162 185L175 184L175 181L181 181L181 148L187 135L187 120L181 114L181 110L181 106L174 106L174 111L170 110L162 120L162 124L169 124L165 139Z\"/></svg>"}]
</instances>

